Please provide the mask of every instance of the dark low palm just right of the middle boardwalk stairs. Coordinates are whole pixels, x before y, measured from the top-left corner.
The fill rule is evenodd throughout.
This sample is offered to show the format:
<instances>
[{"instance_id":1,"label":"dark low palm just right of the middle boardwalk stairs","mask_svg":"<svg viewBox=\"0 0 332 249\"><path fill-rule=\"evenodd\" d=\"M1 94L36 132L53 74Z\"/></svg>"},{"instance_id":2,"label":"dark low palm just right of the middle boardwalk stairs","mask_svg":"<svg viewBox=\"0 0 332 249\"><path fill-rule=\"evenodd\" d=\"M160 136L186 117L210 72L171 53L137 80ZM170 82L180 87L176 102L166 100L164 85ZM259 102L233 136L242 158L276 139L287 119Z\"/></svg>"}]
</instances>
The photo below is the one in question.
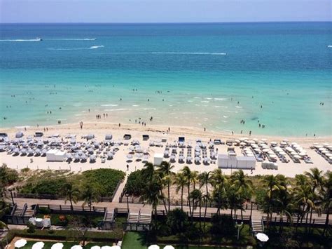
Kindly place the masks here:
<instances>
[{"instance_id":1,"label":"dark low palm just right of the middle boardwalk stairs","mask_svg":"<svg viewBox=\"0 0 332 249\"><path fill-rule=\"evenodd\" d=\"M155 221L157 220L158 204L163 198L165 198L165 196L162 194L162 184L153 177L150 182L147 182L146 189L144 189L143 194L141 195L141 201L146 201L152 206L152 209L155 212Z\"/></svg>"}]
</instances>

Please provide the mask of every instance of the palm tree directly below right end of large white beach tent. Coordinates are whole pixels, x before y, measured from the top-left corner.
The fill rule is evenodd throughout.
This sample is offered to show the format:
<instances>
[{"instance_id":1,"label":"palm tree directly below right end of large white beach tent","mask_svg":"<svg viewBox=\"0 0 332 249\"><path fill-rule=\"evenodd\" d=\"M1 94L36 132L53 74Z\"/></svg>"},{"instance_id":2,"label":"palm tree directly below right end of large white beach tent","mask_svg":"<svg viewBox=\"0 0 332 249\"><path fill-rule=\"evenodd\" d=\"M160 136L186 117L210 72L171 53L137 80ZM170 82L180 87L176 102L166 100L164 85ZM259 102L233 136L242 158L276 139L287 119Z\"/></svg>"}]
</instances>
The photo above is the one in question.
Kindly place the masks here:
<instances>
[{"instance_id":1,"label":"palm tree directly below right end of large white beach tent","mask_svg":"<svg viewBox=\"0 0 332 249\"><path fill-rule=\"evenodd\" d=\"M239 206L241 210L241 219L243 220L243 203L244 203L244 196L249 197L252 192L252 182L251 180L244 175L243 170L238 170L231 175L231 180L233 181L233 187L236 189L236 194L239 195Z\"/></svg>"}]
</instances>

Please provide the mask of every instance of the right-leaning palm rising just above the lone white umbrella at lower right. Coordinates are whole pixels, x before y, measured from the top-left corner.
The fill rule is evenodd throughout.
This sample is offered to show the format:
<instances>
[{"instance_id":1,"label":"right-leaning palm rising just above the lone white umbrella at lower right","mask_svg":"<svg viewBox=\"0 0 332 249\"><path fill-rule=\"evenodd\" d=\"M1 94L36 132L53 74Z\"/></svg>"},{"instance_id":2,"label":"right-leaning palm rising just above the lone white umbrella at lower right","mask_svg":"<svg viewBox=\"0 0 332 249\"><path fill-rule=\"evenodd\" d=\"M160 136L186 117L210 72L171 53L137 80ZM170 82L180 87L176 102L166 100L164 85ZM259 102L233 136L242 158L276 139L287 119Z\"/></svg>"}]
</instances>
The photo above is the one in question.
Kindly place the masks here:
<instances>
[{"instance_id":1,"label":"right-leaning palm rising just above the lone white umbrella at lower right","mask_svg":"<svg viewBox=\"0 0 332 249\"><path fill-rule=\"evenodd\" d=\"M265 196L265 213L268 215L268 219L266 221L266 226L268 227L268 224L270 222L270 218L272 217L272 208L273 208L273 202L275 202L276 194L280 190L284 190L284 175L265 175L265 177L262 180L263 187L267 190L266 196Z\"/></svg>"}]
</instances>

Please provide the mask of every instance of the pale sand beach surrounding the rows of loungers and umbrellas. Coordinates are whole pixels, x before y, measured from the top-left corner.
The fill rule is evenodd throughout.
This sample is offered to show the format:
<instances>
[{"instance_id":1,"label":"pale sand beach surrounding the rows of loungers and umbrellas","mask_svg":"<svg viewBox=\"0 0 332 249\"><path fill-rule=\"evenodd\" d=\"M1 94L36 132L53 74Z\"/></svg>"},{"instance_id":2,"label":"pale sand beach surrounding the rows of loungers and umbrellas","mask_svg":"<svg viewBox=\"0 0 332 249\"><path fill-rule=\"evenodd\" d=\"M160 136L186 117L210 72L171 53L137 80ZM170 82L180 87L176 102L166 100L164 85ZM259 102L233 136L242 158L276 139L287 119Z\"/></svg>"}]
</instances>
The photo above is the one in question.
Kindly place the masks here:
<instances>
[{"instance_id":1,"label":"pale sand beach surrounding the rows of loungers and umbrellas","mask_svg":"<svg viewBox=\"0 0 332 249\"><path fill-rule=\"evenodd\" d=\"M23 139L27 138L29 135L33 136L36 131L42 131L44 133L43 139L45 139L48 136L52 136L55 134L60 135L64 139L64 141L67 141L64 137L68 134L74 134L76 135L76 141L86 141L85 139L81 138L82 136L88 135L88 134L94 134L95 140L97 142L103 142L106 134L113 135L113 140L121 140L123 141L123 135L124 134L130 134L132 135L132 139L129 140L138 140L141 144L141 147L146 149L149 152L148 161L153 162L153 155L155 153L162 153L165 150L165 145L167 143L171 143L174 141L177 141L179 139L179 136L184 136L186 138L186 143L191 142L191 144L195 145L195 140L200 139L202 142L209 142L209 140L214 139L221 139L223 142L229 139L237 139L240 137L244 137L244 135L228 135L223 133L212 133L209 131L203 131L198 128L191 128L191 127L179 127L179 126L172 126L170 127L170 132L167 132L168 126L141 126L139 124L137 125L126 125L122 124L120 127L118 124L114 123L102 123L102 122L87 122L83 123L83 128L81 129L78 123L75 124L66 124L66 125L58 125L58 126L48 126L48 131L43 132L43 128L39 127L29 127L27 128L27 131L24 130L24 128L1 128L2 133L7 133L8 137L10 139L15 138L15 133L18 132L18 130L22 130L25 136ZM142 135L147 134L149 135L148 141L142 140ZM151 140L161 140L162 138L167 139L167 142L163 142L163 147L151 147L149 146L149 142ZM310 149L310 146L312 146L313 143L329 143L332 144L332 137L275 137L275 136L260 136L255 135L252 137L249 137L248 139L254 139L257 138L258 140L261 140L262 138L265 138L268 143L275 141L277 143L282 142L283 139L288 139L289 142L297 142L303 149L306 150L307 156L310 156L312 159L312 163L305 163L303 160L300 160L300 163L294 163L293 161L289 161L288 163L282 163L281 161L277 160L278 169L277 170L271 170L271 169L263 169L261 167L261 162L256 162L256 169L253 170L253 173L251 174L251 170L245 170L245 173L248 175L268 175L268 174L283 174L288 177L294 177L296 174L303 173L306 170L309 170L310 168L317 167L320 170L324 170L326 172L327 170L331 170L332 165L328 163L322 156L317 154L313 149ZM30 169L36 170L36 169L53 169L53 170L72 170L74 172L84 171L84 170L90 170L95 168L114 168L118 170L125 171L127 169L127 164L129 165L129 172L132 172L137 169L141 169L144 166L144 163L142 161L136 161L135 155L133 156L132 162L127 162L127 154L128 154L128 148L129 146L120 145L118 147L118 152L114 155L112 160L106 160L105 163L102 163L102 160L97 156L97 160L95 163L90 163L89 160L85 163L75 163L71 161L71 163L68 162L48 162L46 161L46 157L41 156L13 156L11 154L7 154L6 152L0 153L0 163L6 163L6 165L10 168L15 169L22 169L29 167ZM228 145L226 144L220 144L220 145L214 145L214 148L218 149L219 154L227 154ZM178 149L179 150L179 149ZM235 152L237 155L242 155L240 147L235 147ZM169 161L170 159L165 159L165 161ZM175 163L172 163L174 165L174 171L181 170L184 166L186 166L185 163L179 163L179 161L176 160ZM189 165L192 170L198 170L199 172L202 171L210 171L217 168L217 163L209 163L208 165L205 165L203 163L195 164L191 163ZM231 169L223 169L223 172L226 174L232 173L233 170Z\"/></svg>"}]
</instances>

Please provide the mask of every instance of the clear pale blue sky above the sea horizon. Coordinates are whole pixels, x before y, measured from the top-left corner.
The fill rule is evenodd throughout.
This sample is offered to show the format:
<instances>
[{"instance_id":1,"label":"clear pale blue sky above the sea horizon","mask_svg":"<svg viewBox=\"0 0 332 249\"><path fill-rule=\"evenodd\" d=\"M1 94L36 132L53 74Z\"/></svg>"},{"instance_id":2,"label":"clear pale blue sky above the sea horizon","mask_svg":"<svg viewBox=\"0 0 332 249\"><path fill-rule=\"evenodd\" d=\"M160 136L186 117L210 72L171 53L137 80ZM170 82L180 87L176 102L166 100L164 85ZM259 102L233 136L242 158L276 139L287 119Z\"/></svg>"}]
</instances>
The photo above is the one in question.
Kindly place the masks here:
<instances>
[{"instance_id":1,"label":"clear pale blue sky above the sea horizon","mask_svg":"<svg viewBox=\"0 0 332 249\"><path fill-rule=\"evenodd\" d=\"M331 0L0 0L0 22L331 21Z\"/></svg>"}]
</instances>

